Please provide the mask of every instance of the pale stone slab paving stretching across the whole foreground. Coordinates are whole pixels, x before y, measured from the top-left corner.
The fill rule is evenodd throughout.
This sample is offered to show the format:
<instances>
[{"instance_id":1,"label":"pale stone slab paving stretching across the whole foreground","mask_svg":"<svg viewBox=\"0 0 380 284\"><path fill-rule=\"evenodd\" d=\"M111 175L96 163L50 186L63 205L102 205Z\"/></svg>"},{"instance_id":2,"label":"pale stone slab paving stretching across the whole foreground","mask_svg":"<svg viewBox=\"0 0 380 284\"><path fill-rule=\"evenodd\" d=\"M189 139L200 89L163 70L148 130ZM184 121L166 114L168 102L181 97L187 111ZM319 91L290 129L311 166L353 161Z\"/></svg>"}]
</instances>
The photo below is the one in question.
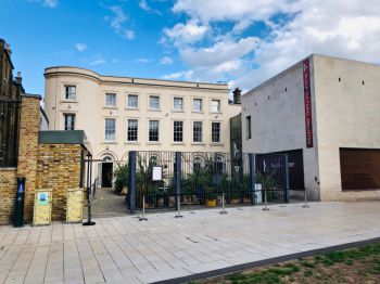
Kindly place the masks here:
<instances>
[{"instance_id":1,"label":"pale stone slab paving stretching across the whole foreground","mask_svg":"<svg viewBox=\"0 0 380 284\"><path fill-rule=\"evenodd\" d=\"M377 202L219 210L0 227L0 283L150 283L380 236Z\"/></svg>"}]
</instances>

